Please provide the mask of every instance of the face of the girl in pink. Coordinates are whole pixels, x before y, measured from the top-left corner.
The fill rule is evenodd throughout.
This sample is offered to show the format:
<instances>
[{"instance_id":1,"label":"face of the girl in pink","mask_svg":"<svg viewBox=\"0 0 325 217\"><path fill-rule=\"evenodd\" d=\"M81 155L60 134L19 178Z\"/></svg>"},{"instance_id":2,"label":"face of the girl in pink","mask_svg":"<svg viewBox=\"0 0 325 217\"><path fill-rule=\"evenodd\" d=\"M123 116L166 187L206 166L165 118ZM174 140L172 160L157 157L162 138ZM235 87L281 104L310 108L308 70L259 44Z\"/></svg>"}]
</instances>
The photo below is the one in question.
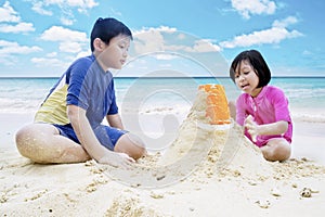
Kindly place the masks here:
<instances>
[{"instance_id":1,"label":"face of the girl in pink","mask_svg":"<svg viewBox=\"0 0 325 217\"><path fill-rule=\"evenodd\" d=\"M238 64L235 71L235 82L240 90L252 97L258 95L261 91L261 88L257 88L259 77L248 60L243 60Z\"/></svg>"}]
</instances>

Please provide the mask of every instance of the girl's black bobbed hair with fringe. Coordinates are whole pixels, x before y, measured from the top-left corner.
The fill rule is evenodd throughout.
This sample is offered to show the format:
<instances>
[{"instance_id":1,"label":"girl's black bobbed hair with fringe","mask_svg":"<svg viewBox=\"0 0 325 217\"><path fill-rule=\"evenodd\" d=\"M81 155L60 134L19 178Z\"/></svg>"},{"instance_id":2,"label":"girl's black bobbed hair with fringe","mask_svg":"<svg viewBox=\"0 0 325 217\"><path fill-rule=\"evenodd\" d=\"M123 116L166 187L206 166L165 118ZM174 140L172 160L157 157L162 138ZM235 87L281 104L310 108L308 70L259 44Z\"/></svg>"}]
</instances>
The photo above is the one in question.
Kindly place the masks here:
<instances>
[{"instance_id":1,"label":"girl's black bobbed hair with fringe","mask_svg":"<svg viewBox=\"0 0 325 217\"><path fill-rule=\"evenodd\" d=\"M232 62L230 67L230 77L235 82L236 68L240 66L242 61L249 61L259 77L258 88L266 86L271 80L271 71L264 61L262 54L257 50L247 50L239 53Z\"/></svg>"}]
</instances>

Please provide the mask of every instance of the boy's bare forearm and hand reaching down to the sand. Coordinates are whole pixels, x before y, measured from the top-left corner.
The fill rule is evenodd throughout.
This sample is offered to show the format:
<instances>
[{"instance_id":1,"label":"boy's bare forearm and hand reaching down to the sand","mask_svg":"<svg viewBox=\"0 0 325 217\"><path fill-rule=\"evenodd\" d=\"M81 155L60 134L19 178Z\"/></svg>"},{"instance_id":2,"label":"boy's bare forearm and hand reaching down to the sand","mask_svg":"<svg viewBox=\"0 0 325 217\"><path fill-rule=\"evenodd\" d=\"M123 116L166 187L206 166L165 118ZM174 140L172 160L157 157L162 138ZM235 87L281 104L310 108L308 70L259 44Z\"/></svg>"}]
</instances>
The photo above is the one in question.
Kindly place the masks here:
<instances>
[{"instance_id":1,"label":"boy's bare forearm and hand reaching down to the sand","mask_svg":"<svg viewBox=\"0 0 325 217\"><path fill-rule=\"evenodd\" d=\"M76 105L68 105L68 118L73 128L88 154L99 163L126 167L134 159L127 154L116 153L104 148L96 139L86 116L86 111Z\"/></svg>"}]
</instances>

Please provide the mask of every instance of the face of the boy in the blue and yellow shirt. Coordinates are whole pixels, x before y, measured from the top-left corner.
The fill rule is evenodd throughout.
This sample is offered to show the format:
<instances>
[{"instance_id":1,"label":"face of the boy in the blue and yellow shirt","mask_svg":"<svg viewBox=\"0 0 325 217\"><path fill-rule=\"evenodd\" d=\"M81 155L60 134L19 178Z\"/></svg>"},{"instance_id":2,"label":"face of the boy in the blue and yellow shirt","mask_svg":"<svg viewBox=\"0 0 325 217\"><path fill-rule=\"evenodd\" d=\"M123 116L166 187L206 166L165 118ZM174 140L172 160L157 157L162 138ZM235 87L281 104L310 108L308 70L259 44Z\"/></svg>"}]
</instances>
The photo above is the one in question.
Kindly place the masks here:
<instances>
[{"instance_id":1,"label":"face of the boy in the blue and yellow shirt","mask_svg":"<svg viewBox=\"0 0 325 217\"><path fill-rule=\"evenodd\" d=\"M120 69L126 63L128 50L130 47L130 38L119 35L110 39L109 44L105 44L104 50L99 55L102 67L104 69L116 68Z\"/></svg>"}]
</instances>

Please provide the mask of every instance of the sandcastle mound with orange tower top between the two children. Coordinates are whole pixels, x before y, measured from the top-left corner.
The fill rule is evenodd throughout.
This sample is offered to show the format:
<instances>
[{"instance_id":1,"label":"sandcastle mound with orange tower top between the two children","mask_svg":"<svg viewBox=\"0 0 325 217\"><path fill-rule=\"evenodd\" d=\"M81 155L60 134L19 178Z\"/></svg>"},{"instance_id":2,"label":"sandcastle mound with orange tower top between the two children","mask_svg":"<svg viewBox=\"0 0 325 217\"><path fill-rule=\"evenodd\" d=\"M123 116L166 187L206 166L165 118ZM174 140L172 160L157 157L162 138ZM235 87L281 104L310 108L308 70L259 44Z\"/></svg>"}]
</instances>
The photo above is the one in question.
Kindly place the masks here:
<instances>
[{"instance_id":1,"label":"sandcastle mound with orange tower top between the two children","mask_svg":"<svg viewBox=\"0 0 325 217\"><path fill-rule=\"evenodd\" d=\"M236 171L240 171L242 177L257 177L262 174L261 169L270 170L257 166L263 164L260 151L230 117L224 88L200 85L176 139L166 150L140 159L132 176L130 170L116 168L110 168L109 175L132 187L157 188L178 182L193 173L196 174L194 179Z\"/></svg>"}]
</instances>

